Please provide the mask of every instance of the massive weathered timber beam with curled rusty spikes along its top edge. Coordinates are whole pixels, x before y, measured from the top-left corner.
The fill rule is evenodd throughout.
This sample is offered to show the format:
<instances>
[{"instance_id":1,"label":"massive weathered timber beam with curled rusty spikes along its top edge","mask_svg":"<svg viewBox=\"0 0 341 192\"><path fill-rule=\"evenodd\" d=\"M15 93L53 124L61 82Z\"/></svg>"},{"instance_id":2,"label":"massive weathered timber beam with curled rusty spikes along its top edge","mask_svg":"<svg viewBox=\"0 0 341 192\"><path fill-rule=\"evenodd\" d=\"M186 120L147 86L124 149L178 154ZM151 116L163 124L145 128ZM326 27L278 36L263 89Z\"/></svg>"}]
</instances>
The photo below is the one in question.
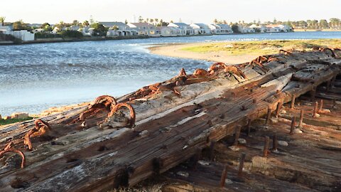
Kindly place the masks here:
<instances>
[{"instance_id":1,"label":"massive weathered timber beam with curled rusty spikes along its top edge","mask_svg":"<svg viewBox=\"0 0 341 192\"><path fill-rule=\"evenodd\" d=\"M306 92L314 95L321 83L332 85L341 72L337 54L340 50L285 52L237 67L218 63L208 72L182 71L117 101L101 97L89 107L43 117L36 126L28 121L4 127L0 147L8 151L1 159L0 191L134 186L234 134L236 127L276 114L281 104ZM130 114L119 110L130 106Z\"/></svg>"}]
</instances>

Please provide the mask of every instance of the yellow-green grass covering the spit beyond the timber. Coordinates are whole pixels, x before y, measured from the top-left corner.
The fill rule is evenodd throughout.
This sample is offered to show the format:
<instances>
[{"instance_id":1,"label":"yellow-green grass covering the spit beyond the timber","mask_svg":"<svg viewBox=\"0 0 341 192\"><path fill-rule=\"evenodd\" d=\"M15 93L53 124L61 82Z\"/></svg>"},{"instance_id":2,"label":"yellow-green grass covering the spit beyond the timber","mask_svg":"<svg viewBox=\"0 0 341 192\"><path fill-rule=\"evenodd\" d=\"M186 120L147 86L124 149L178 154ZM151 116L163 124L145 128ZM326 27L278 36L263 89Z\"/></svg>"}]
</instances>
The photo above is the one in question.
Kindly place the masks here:
<instances>
[{"instance_id":1,"label":"yellow-green grass covering the spit beyond the timber","mask_svg":"<svg viewBox=\"0 0 341 192\"><path fill-rule=\"evenodd\" d=\"M189 46L181 50L195 53L225 52L229 55L269 55L280 49L309 50L313 46L340 47L340 39L318 40L276 40L276 41L238 41L207 43L204 46Z\"/></svg>"}]
</instances>

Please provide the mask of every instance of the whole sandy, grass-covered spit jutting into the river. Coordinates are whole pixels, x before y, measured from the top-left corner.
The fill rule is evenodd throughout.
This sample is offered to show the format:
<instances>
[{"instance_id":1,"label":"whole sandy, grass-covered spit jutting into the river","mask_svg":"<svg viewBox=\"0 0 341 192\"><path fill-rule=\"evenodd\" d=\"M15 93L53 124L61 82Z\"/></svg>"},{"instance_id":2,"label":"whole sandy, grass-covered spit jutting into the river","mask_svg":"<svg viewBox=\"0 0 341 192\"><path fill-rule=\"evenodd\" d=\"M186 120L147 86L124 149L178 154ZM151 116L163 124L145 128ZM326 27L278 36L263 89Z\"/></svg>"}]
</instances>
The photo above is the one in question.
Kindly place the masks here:
<instances>
[{"instance_id":1,"label":"whole sandy, grass-covered spit jutting into the river","mask_svg":"<svg viewBox=\"0 0 341 192\"><path fill-rule=\"evenodd\" d=\"M151 53L174 58L191 58L228 64L246 63L257 55L278 53L280 49L309 50L313 46L341 45L340 39L231 41L223 43L163 44L149 48Z\"/></svg>"}]
</instances>

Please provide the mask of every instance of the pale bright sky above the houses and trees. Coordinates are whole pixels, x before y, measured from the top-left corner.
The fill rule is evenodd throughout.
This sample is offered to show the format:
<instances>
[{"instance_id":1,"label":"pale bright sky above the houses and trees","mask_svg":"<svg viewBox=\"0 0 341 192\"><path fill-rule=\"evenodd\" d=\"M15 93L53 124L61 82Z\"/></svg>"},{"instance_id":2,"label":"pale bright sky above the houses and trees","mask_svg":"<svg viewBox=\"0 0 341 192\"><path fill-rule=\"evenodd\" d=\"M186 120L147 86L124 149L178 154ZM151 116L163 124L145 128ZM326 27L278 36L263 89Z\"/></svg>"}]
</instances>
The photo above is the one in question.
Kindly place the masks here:
<instances>
[{"instance_id":1,"label":"pale bright sky above the houses and trees","mask_svg":"<svg viewBox=\"0 0 341 192\"><path fill-rule=\"evenodd\" d=\"M71 23L85 21L136 22L143 18L212 23L245 21L298 21L341 18L340 0L1 0L0 16L13 22Z\"/></svg>"}]
</instances>

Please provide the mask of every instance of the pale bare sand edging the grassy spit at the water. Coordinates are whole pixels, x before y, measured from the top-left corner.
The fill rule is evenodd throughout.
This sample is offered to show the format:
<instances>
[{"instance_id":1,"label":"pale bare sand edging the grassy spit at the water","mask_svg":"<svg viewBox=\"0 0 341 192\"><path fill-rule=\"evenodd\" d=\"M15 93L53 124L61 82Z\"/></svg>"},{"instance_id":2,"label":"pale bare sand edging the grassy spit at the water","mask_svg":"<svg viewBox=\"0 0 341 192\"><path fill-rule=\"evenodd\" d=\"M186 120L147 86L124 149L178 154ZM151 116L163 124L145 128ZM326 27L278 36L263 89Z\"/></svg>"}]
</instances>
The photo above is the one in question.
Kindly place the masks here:
<instances>
[{"instance_id":1,"label":"pale bare sand edging the grassy spit at the water","mask_svg":"<svg viewBox=\"0 0 341 192\"><path fill-rule=\"evenodd\" d=\"M210 42L212 43L212 42ZM227 64L246 63L256 58L255 55L229 55L224 51L210 53L195 53L188 50L181 50L188 46L204 46L205 43L182 43L182 44L164 44L149 48L151 53L156 55L165 55L174 58L190 58L197 60L207 60L213 62L222 62Z\"/></svg>"}]
</instances>

